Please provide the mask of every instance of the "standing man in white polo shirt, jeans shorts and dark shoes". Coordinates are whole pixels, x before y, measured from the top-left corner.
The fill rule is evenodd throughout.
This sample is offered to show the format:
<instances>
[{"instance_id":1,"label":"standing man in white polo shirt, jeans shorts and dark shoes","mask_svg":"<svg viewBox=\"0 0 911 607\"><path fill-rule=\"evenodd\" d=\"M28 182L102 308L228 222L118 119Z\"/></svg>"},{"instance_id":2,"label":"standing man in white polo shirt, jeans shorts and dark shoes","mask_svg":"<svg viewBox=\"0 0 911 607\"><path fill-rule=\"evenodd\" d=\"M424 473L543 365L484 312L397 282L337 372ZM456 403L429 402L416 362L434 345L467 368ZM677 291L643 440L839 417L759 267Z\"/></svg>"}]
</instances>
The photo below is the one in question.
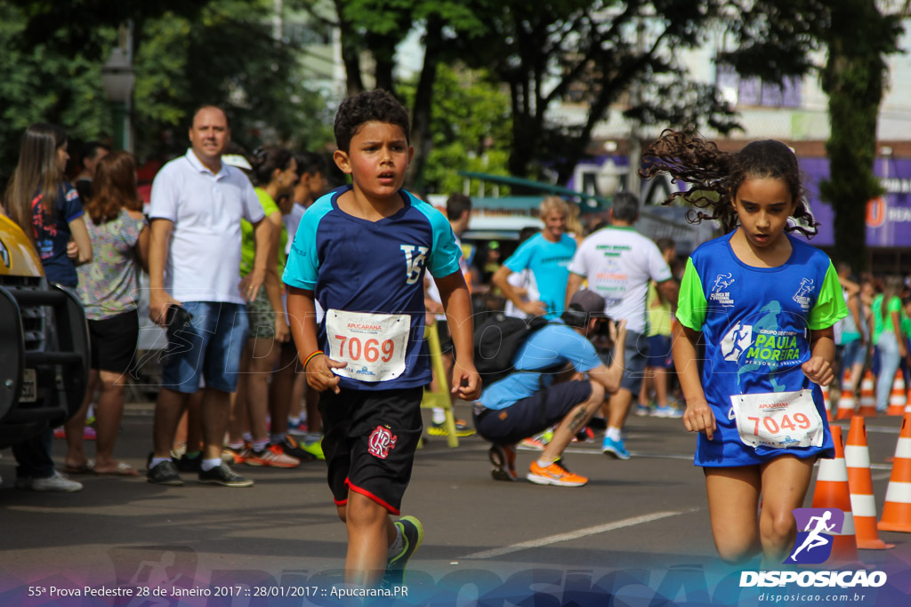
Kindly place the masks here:
<instances>
[{"instance_id":1,"label":"standing man in white polo shirt, jeans shorts and dark shoes","mask_svg":"<svg viewBox=\"0 0 911 607\"><path fill-rule=\"evenodd\" d=\"M252 481L222 463L221 443L247 333L244 304L256 297L265 278L273 230L263 221L250 180L221 163L230 141L225 113L215 106L200 107L189 141L187 154L162 167L152 182L149 316L165 325L169 308L179 306L189 317L175 309L180 313L173 314L169 327L146 480L183 484L169 450L189 395L204 379L200 482L249 487ZM254 268L242 281L241 218L253 224L256 237ZM188 451L193 447L188 445Z\"/></svg>"}]
</instances>

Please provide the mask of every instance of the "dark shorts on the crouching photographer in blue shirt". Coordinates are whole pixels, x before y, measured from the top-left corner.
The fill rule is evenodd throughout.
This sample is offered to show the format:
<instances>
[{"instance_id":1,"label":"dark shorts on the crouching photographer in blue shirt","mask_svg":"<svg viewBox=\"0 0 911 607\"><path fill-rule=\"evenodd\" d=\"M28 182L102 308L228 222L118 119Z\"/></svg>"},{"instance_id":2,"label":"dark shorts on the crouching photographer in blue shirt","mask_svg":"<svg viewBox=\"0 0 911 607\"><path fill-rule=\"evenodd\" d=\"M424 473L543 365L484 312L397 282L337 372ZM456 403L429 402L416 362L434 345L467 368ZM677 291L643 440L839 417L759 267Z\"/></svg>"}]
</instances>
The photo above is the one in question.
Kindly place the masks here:
<instances>
[{"instance_id":1,"label":"dark shorts on the crouching photographer in blue shirt","mask_svg":"<svg viewBox=\"0 0 911 607\"><path fill-rule=\"evenodd\" d=\"M498 445L511 445L547 430L563 420L579 403L589 400L591 382L565 381L542 389L506 409L485 409L475 414L475 430Z\"/></svg>"}]
</instances>

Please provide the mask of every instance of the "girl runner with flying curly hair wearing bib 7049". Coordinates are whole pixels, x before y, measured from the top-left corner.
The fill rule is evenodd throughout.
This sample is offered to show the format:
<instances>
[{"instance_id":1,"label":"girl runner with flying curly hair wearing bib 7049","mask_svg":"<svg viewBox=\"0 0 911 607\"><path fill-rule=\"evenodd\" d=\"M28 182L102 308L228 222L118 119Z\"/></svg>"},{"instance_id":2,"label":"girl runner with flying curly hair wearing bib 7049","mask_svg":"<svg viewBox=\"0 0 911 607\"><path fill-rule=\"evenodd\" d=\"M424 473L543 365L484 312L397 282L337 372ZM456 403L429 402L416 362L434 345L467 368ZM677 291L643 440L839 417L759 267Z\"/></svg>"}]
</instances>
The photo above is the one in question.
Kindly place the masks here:
<instances>
[{"instance_id":1,"label":"girl runner with flying curly hair wearing bib 7049","mask_svg":"<svg viewBox=\"0 0 911 607\"><path fill-rule=\"evenodd\" d=\"M724 153L665 131L644 159L644 177L667 171L690 185L668 202L681 197L694 220L717 219L725 233L687 262L673 358L683 423L700 432L695 463L719 555L741 562L761 550L763 566L776 566L792 550L791 511L804 504L814 461L834 457L819 385L834 377L832 326L847 315L838 277L824 253L789 234L811 236L818 224L783 143Z\"/></svg>"}]
</instances>

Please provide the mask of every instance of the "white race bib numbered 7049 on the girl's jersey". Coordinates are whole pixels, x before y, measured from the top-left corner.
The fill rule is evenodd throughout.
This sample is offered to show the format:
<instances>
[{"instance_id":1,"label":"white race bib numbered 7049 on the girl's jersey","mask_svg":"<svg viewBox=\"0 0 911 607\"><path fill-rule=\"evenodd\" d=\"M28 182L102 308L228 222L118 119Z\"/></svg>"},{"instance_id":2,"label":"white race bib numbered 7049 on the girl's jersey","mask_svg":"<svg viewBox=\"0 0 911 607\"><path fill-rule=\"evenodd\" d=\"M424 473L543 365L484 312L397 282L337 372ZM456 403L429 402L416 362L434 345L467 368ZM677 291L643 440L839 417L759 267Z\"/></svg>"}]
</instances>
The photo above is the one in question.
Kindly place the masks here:
<instances>
[{"instance_id":1,"label":"white race bib numbered 7049 on the girl's jersey","mask_svg":"<svg viewBox=\"0 0 911 607\"><path fill-rule=\"evenodd\" d=\"M823 420L812 389L735 394L731 397L741 440L751 447L821 447Z\"/></svg>"}]
</instances>

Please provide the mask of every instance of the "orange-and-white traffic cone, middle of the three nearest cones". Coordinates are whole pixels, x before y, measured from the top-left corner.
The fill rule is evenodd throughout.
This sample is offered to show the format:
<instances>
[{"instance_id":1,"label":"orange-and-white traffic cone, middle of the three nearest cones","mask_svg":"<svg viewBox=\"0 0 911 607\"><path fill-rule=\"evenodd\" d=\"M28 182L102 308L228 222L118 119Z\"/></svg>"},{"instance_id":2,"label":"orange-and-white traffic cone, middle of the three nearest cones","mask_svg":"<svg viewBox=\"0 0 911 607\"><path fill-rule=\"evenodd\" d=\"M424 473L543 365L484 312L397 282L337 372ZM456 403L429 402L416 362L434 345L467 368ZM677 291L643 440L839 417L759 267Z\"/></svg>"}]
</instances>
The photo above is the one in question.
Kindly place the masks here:
<instances>
[{"instance_id":1,"label":"orange-and-white traffic cone, middle of the three nearest cones","mask_svg":"<svg viewBox=\"0 0 911 607\"><path fill-rule=\"evenodd\" d=\"M864 418L855 415L851 420L848 442L844 446L844 461L848 468L848 488L851 491L851 511L854 513L857 548L885 550L895 548L879 539L876 531L876 501L873 478L870 475L870 450L866 446Z\"/></svg>"}]
</instances>

